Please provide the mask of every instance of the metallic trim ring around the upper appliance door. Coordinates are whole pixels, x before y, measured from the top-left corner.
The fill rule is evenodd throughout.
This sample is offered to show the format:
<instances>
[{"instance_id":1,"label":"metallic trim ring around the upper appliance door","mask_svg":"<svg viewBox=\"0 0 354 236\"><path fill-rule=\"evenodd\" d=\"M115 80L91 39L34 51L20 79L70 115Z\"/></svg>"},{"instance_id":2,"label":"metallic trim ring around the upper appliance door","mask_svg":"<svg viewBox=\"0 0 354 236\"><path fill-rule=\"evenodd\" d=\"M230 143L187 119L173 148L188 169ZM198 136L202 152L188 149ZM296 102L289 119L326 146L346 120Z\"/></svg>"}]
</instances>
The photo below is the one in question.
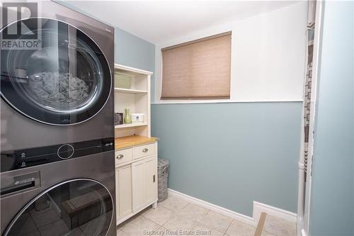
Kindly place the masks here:
<instances>
[{"instance_id":1,"label":"metallic trim ring around the upper appliance door","mask_svg":"<svg viewBox=\"0 0 354 236\"><path fill-rule=\"evenodd\" d=\"M107 62L108 64L108 69L110 69L110 64L108 63L108 60L107 60L107 57L105 56L105 52L103 52L103 50L101 49L101 47L95 42L95 40L93 40L89 35L87 35L83 30L77 28L76 26L73 26L72 24L70 23L67 23L65 21L61 21L59 19L55 19L55 18L48 18L48 17L30 17L30 18L41 18L41 19L48 19L48 20L53 20L53 21L59 21L59 22L62 22L62 23L66 23L68 26L72 26L78 30L80 30L82 33L84 33L87 37L89 37L92 42L101 50L102 54L103 54L103 57L105 57L105 62ZM11 26L13 23L17 23L18 21L24 21L24 20L28 20L30 18L23 18L23 19L20 19L20 20L17 20L17 21L13 21L12 23L9 23L8 25L4 26L3 28L1 28L0 30L0 33L5 29L7 28L8 26ZM96 20L95 20L96 21ZM0 50L1 51L1 50ZM110 92L108 94L108 99L105 100L105 103L103 104L103 106L101 107L101 109L99 111L97 111L93 116L87 118L86 120L90 120L91 118L95 117L98 113L100 113L100 111L102 111L102 109L105 107L105 104L108 102L108 100L110 99L110 94L112 93L112 84L113 84L113 80L112 80L112 69L110 69ZM52 124L52 123L47 123L45 121L41 121L41 120L37 120L35 118L32 118L30 116L28 116L27 114L23 113L22 111L18 110L18 108L16 108L16 106L13 106L13 104L8 101L6 99L6 97L1 93L1 90L0 90L0 95L1 95L1 98L4 99L8 104L11 105L12 108L14 108L16 111L18 111L18 113L21 113L23 116L26 116L32 120L35 120L35 121L38 121L40 123L44 123L44 124L47 124L47 125L55 125L55 126L69 126L69 125L77 125L77 124L80 124L80 123L84 123L86 120L82 120L78 123L72 123L72 124Z\"/></svg>"}]
</instances>

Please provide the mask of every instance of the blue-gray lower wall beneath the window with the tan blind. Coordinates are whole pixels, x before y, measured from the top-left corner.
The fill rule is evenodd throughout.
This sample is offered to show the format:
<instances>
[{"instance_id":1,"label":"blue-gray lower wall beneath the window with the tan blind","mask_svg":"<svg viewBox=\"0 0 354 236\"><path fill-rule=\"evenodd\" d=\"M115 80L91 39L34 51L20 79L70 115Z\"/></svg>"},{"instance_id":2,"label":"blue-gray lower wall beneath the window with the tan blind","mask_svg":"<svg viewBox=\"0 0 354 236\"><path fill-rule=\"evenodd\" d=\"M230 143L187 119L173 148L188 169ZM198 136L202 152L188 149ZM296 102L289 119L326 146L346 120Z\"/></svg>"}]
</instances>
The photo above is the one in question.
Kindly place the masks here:
<instances>
[{"instance_id":1,"label":"blue-gray lower wall beneath the window with the tan blind","mask_svg":"<svg viewBox=\"0 0 354 236\"><path fill-rule=\"evenodd\" d=\"M296 212L301 102L152 105L169 188L252 216L253 201Z\"/></svg>"}]
</instances>

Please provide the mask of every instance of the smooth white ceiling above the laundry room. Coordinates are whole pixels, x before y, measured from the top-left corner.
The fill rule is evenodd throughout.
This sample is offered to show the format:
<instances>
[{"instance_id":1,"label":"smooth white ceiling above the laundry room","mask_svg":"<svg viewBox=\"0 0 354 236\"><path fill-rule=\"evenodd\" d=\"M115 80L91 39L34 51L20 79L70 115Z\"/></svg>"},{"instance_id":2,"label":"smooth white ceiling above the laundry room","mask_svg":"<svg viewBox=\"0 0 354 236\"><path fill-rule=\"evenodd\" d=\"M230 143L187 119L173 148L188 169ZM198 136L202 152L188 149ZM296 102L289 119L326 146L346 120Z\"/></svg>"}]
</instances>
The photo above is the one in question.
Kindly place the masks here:
<instances>
[{"instance_id":1,"label":"smooth white ceiling above the laundry room","mask_svg":"<svg viewBox=\"0 0 354 236\"><path fill-rule=\"evenodd\" d=\"M298 1L68 1L150 43L188 34L228 19L280 9Z\"/></svg>"}]
</instances>

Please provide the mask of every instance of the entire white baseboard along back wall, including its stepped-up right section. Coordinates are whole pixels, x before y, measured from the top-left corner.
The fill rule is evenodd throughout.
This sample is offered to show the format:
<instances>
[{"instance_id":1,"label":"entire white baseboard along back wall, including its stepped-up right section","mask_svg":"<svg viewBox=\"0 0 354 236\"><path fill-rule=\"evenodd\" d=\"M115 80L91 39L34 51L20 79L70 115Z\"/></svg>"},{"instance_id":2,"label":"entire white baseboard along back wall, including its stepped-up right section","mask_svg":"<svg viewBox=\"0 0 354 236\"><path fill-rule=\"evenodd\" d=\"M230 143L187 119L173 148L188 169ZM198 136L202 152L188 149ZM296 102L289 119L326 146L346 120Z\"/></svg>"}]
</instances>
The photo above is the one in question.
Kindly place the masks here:
<instances>
[{"instance_id":1,"label":"entire white baseboard along back wall, including its stepped-up right section","mask_svg":"<svg viewBox=\"0 0 354 236\"><path fill-rule=\"evenodd\" d=\"M227 215L235 220L239 220L239 221L249 224L249 225L256 226L258 224L258 220L261 215L261 212L268 213L269 215L275 215L279 218L282 218L284 220L289 220L290 222L294 222L294 223L296 223L296 220L297 220L297 216L295 213L292 213L287 210L282 210L280 208L275 208L273 206L268 206L263 203L258 203L256 201L253 201L253 218L251 218L248 215L236 213L233 210L223 208L222 206L217 206L215 204L200 200L198 198L195 198L193 196L189 196L185 193L181 193L181 192L178 192L173 189L169 189L168 191L169 191L169 195L171 195L171 196L178 196L180 198L184 198L186 201L189 201L191 203L195 203L196 205L202 206L202 207L207 208L209 210L213 210L213 211L220 213L222 215Z\"/></svg>"}]
</instances>

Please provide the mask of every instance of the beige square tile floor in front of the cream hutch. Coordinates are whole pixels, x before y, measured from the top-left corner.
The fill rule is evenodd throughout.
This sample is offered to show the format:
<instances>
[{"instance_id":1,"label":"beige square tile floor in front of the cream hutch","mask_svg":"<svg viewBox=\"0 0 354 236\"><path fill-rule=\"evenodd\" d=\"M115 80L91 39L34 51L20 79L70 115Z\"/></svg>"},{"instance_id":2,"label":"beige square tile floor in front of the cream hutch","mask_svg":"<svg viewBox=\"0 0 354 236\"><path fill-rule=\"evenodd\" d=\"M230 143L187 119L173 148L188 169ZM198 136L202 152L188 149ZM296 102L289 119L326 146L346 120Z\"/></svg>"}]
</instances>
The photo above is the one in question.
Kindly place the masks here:
<instances>
[{"instance_id":1,"label":"beige square tile floor in front of the cream hutch","mask_svg":"<svg viewBox=\"0 0 354 236\"><path fill-rule=\"evenodd\" d=\"M199 231L198 231L199 230ZM143 210L118 225L118 236L211 235L253 236L256 227L170 196L157 209ZM267 215L262 236L296 236L296 225Z\"/></svg>"}]
</instances>

